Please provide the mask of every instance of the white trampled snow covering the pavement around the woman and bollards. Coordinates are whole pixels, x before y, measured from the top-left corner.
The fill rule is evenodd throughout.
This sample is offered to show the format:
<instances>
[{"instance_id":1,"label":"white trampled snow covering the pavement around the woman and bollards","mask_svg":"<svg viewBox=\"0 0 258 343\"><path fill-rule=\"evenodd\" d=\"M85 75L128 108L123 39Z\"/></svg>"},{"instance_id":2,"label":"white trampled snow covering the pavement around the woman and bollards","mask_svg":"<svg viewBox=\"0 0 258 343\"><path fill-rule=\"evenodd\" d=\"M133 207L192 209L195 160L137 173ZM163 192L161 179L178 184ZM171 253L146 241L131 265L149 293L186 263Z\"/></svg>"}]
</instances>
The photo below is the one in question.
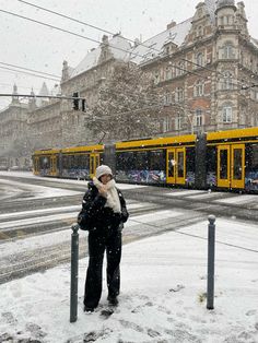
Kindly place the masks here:
<instances>
[{"instance_id":1,"label":"white trampled snow covering the pavement around the woman and bollards","mask_svg":"<svg viewBox=\"0 0 258 343\"><path fill-rule=\"evenodd\" d=\"M44 343L258 342L258 226L222 218L215 223L215 298L214 309L208 310L207 224L124 246L119 306L109 318L102 316L105 280L99 308L83 312L87 258L79 265L75 323L69 322L70 264L0 285L0 338Z\"/></svg>"}]
</instances>

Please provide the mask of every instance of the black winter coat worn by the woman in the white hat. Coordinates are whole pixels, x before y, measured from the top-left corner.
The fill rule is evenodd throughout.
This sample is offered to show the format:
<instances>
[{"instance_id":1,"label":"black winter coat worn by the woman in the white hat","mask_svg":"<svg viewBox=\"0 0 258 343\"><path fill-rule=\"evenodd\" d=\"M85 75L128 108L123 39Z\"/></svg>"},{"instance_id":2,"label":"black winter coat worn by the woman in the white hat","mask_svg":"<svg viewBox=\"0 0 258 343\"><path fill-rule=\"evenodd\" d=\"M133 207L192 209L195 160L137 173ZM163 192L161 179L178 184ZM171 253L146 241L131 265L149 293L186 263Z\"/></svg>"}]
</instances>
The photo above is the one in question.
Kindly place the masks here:
<instances>
[{"instance_id":1,"label":"black winter coat worn by the woman in the white hat","mask_svg":"<svg viewBox=\"0 0 258 343\"><path fill-rule=\"evenodd\" d=\"M105 208L107 199L99 194L92 181L89 182L87 187L89 190L83 197L82 209L89 220L89 230L114 232L122 229L129 214L121 191L117 189L121 213L115 213L113 209Z\"/></svg>"}]
</instances>

